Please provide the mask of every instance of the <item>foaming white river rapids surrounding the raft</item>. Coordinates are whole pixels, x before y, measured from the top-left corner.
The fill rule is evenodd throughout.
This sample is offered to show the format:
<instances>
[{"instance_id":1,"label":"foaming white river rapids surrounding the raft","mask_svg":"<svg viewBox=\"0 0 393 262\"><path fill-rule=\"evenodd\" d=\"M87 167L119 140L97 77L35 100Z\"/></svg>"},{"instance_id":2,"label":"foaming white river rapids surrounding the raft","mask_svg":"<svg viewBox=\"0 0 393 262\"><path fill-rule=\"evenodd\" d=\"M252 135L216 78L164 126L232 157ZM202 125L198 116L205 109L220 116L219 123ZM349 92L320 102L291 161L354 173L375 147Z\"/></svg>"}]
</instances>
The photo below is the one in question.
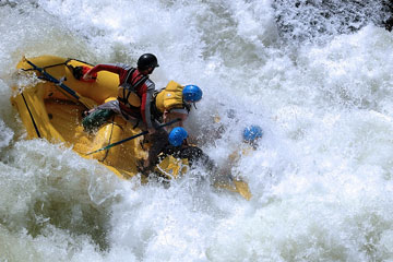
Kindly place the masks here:
<instances>
[{"instance_id":1,"label":"foaming white river rapids surrounding the raft","mask_svg":"<svg viewBox=\"0 0 393 262\"><path fill-rule=\"evenodd\" d=\"M307 2L0 0L0 261L393 261L388 10ZM250 201L202 170L140 186L25 140L10 104L23 56L134 64L144 52L157 87L203 90L187 129L221 167L245 127L262 127L233 164Z\"/></svg>"}]
</instances>

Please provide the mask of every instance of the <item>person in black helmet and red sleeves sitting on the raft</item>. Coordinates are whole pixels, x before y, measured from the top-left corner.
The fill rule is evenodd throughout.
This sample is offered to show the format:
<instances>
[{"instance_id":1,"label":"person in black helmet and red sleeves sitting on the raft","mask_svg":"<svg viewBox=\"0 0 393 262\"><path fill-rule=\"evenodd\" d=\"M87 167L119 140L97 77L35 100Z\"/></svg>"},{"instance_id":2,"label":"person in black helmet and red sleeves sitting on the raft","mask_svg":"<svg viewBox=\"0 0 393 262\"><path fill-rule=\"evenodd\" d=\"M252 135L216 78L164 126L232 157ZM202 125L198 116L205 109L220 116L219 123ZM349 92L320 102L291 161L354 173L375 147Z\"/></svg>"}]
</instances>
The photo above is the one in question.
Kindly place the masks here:
<instances>
[{"instance_id":1,"label":"person in black helmet and red sleeves sitting on the raft","mask_svg":"<svg viewBox=\"0 0 393 262\"><path fill-rule=\"evenodd\" d=\"M168 141L168 134L164 129L157 129L159 122L151 116L152 97L155 84L148 79L154 69L158 67L157 58L152 53L142 55L136 68L128 64L97 64L87 71L83 79L88 81L92 75L99 71L109 71L119 75L118 97L90 110L82 120L86 131L98 128L114 115L122 116L133 126L139 126L143 131L147 130L152 140L148 157L143 164L143 172L152 170L157 160L157 155ZM142 124L141 124L142 121Z\"/></svg>"}]
</instances>

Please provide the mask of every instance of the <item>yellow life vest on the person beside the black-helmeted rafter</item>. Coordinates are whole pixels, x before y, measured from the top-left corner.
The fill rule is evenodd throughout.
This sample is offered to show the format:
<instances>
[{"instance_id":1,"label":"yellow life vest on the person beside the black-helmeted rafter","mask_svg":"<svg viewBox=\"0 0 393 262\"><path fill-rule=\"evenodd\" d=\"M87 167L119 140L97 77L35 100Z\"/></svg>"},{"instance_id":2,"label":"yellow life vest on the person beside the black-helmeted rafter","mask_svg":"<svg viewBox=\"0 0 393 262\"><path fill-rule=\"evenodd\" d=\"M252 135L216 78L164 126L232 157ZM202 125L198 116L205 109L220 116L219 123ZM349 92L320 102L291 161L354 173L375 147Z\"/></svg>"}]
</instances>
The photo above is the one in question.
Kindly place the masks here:
<instances>
[{"instance_id":1,"label":"yellow life vest on the person beside the black-helmeted rafter","mask_svg":"<svg viewBox=\"0 0 393 262\"><path fill-rule=\"evenodd\" d=\"M163 114L170 109L187 109L190 111L191 106L186 104L182 99L182 90L184 86L170 81L168 85L162 90L155 97L155 107Z\"/></svg>"}]
</instances>

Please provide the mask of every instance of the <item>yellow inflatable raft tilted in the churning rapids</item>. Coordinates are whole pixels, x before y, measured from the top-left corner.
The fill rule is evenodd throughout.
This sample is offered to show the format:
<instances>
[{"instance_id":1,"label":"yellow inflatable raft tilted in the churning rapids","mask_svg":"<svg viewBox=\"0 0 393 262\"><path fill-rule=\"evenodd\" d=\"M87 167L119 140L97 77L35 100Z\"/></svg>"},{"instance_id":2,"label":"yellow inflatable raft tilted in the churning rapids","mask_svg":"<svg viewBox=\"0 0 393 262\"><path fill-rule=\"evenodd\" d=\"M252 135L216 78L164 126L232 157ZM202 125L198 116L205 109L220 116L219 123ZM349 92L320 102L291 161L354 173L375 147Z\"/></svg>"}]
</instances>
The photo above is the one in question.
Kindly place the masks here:
<instances>
[{"instance_id":1,"label":"yellow inflatable raft tilted in the churning rapids","mask_svg":"<svg viewBox=\"0 0 393 262\"><path fill-rule=\"evenodd\" d=\"M32 84L15 87L11 103L27 130L27 139L62 142L72 146L81 156L97 159L120 178L131 178L139 174L138 165L147 156L148 144L144 143L143 135L139 135L142 130L131 127L119 116L103 124L95 133L85 132L81 124L83 111L116 99L118 93L119 79L115 73L100 71L91 82L78 79L75 69L86 70L92 67L76 59L53 56L23 58L16 68L21 73L32 74ZM35 78L41 81L33 81ZM138 138L108 146L130 136ZM102 150L104 147L110 148ZM92 152L95 153L90 154ZM156 168L158 174L169 179L187 170L187 159L179 160L170 156ZM235 188L234 191L238 190Z\"/></svg>"}]
</instances>

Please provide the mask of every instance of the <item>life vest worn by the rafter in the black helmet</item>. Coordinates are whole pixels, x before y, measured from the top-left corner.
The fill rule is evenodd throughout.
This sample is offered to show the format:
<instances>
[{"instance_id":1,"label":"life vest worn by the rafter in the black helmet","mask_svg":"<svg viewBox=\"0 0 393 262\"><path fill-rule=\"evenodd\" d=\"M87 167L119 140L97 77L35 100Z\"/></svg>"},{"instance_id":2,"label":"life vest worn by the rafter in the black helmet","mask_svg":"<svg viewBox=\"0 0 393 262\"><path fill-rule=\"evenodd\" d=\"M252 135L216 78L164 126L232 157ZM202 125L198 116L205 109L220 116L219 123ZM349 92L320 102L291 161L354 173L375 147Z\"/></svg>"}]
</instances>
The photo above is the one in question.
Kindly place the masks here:
<instances>
[{"instance_id":1,"label":"life vest worn by the rafter in the black helmet","mask_svg":"<svg viewBox=\"0 0 393 262\"><path fill-rule=\"evenodd\" d=\"M135 68L132 68L127 73L124 82L119 85L118 88L118 100L122 104L122 108L126 106L131 110L139 109L141 107L141 98L136 91L140 88L148 79L147 75L141 73L133 75Z\"/></svg>"}]
</instances>

